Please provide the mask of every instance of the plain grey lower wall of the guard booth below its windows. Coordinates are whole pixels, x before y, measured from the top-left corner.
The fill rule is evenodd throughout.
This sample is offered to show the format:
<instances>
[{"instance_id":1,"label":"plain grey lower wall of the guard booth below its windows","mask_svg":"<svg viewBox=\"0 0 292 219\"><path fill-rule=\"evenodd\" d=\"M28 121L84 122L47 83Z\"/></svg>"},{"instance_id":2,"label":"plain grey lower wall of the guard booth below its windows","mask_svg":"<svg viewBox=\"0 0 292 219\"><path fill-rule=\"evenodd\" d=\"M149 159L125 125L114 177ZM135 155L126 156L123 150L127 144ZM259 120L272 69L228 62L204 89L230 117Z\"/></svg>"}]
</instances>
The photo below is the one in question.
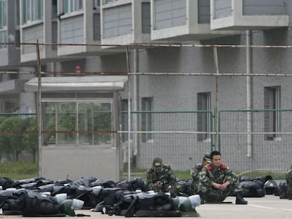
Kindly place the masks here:
<instances>
[{"instance_id":1,"label":"plain grey lower wall of the guard booth below its windows","mask_svg":"<svg viewBox=\"0 0 292 219\"><path fill-rule=\"evenodd\" d=\"M111 161L111 165L104 165ZM116 149L100 146L44 146L42 148L42 176L51 180L78 180L92 176L97 179L118 178Z\"/></svg>"}]
</instances>

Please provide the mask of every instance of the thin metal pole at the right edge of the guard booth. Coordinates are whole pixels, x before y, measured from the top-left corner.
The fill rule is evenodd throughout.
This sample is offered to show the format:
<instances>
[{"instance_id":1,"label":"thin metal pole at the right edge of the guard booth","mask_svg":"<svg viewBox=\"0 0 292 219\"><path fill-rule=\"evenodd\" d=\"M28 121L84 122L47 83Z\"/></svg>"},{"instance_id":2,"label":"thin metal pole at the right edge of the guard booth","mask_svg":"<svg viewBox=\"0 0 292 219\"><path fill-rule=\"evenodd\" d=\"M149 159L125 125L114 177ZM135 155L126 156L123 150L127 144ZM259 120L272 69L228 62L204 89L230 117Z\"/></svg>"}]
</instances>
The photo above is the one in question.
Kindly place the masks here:
<instances>
[{"instance_id":1,"label":"thin metal pole at the right edge of the guard booth","mask_svg":"<svg viewBox=\"0 0 292 219\"><path fill-rule=\"evenodd\" d=\"M126 46L127 70L128 70L128 180L130 180L130 54L129 48Z\"/></svg>"}]
</instances>

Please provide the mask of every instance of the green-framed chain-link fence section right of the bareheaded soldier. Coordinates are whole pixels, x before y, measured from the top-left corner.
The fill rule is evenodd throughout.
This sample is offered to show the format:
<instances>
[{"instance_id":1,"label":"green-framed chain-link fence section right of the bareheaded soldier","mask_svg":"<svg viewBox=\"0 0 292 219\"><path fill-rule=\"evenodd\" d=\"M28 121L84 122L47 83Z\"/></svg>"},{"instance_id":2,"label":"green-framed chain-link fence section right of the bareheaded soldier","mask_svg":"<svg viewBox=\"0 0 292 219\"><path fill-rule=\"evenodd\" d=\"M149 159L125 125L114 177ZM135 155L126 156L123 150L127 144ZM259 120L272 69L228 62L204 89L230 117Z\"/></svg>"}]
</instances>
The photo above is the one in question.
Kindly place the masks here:
<instances>
[{"instance_id":1,"label":"green-framed chain-link fence section right of the bareheaded soldier","mask_svg":"<svg viewBox=\"0 0 292 219\"><path fill-rule=\"evenodd\" d=\"M291 121L291 109L220 111L219 149L224 162L238 172L286 172L292 156Z\"/></svg>"}]
</instances>

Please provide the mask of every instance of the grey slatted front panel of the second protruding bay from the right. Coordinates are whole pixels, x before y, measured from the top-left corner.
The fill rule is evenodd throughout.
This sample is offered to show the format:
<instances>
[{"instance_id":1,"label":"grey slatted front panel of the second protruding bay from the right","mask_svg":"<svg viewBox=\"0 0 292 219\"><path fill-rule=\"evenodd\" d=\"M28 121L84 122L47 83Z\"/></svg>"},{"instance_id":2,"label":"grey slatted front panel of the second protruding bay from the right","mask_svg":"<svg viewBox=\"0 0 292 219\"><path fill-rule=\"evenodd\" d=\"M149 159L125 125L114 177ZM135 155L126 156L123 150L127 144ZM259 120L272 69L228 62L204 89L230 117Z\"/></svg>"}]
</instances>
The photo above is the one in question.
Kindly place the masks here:
<instances>
[{"instance_id":1,"label":"grey slatted front panel of the second protruding bay from the right","mask_svg":"<svg viewBox=\"0 0 292 219\"><path fill-rule=\"evenodd\" d=\"M155 0L157 30L186 24L186 0Z\"/></svg>"}]
</instances>

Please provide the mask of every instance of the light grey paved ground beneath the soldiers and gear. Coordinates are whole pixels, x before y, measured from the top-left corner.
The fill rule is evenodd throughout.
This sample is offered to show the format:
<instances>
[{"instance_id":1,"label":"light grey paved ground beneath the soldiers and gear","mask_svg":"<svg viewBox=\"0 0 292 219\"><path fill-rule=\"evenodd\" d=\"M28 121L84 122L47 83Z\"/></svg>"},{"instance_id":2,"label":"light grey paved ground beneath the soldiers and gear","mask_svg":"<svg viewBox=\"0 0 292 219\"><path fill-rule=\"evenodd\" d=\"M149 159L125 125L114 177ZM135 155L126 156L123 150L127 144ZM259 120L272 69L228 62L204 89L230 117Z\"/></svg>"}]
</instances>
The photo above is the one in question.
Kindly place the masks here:
<instances>
[{"instance_id":1,"label":"light grey paved ground beneath the soldiers and gear","mask_svg":"<svg viewBox=\"0 0 292 219\"><path fill-rule=\"evenodd\" d=\"M235 197L228 197L226 201L232 201L233 204L204 204L202 206L198 206L196 209L197 212L200 213L200 218L205 219L292 218L292 200L279 199L279 196L274 195L267 195L262 198L245 199L248 200L248 205L236 205L234 204ZM102 215L101 213L90 212L87 210L76 211L76 213L90 215L90 217L83 218L92 219L125 218L123 216ZM19 219L23 217L21 215L1 215L0 218Z\"/></svg>"}]
</instances>

